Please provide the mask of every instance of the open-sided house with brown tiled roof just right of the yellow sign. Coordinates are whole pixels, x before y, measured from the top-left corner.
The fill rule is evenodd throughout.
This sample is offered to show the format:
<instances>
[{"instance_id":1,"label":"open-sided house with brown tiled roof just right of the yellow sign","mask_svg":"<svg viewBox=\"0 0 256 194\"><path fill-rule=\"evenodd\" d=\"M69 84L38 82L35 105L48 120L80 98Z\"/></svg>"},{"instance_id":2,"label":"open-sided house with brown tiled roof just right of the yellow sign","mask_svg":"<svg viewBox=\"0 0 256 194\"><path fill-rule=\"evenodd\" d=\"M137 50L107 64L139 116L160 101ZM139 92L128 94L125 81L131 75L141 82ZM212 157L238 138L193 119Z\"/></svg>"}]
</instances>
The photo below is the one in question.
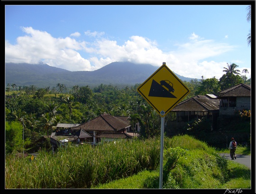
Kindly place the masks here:
<instances>
[{"instance_id":1,"label":"open-sided house with brown tiled roof just right of the yellow sign","mask_svg":"<svg viewBox=\"0 0 256 194\"><path fill-rule=\"evenodd\" d=\"M206 117L212 120L212 128L215 128L219 99L213 94L197 95L178 103L170 112L176 114L176 123Z\"/></svg>"}]
</instances>

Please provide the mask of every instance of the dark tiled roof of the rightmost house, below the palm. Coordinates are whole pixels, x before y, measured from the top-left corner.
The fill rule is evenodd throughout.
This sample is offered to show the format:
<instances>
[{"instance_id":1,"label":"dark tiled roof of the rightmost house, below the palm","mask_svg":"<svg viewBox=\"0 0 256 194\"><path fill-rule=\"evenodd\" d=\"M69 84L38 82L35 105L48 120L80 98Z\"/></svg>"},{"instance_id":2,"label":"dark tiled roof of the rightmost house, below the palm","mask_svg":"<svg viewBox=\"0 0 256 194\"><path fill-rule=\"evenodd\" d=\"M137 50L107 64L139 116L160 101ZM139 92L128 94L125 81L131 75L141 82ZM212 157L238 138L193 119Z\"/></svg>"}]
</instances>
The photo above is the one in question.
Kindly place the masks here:
<instances>
[{"instance_id":1,"label":"dark tiled roof of the rightmost house, below the palm","mask_svg":"<svg viewBox=\"0 0 256 194\"><path fill-rule=\"evenodd\" d=\"M219 92L219 97L250 97L251 96L251 85L249 84L238 84L233 87L224 89Z\"/></svg>"}]
</instances>

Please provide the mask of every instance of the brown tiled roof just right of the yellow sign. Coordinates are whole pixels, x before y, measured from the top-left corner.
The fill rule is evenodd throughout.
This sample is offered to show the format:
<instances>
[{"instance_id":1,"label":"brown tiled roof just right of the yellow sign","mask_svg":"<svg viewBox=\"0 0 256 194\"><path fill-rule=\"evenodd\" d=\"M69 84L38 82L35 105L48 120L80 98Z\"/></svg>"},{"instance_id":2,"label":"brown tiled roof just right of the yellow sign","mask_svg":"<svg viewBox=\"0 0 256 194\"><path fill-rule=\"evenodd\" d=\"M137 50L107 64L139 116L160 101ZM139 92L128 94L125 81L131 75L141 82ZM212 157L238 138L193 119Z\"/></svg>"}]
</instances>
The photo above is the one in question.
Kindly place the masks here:
<instances>
[{"instance_id":1,"label":"brown tiled roof just right of the yellow sign","mask_svg":"<svg viewBox=\"0 0 256 194\"><path fill-rule=\"evenodd\" d=\"M219 110L219 99L209 95L197 95L178 103L171 111L215 111Z\"/></svg>"}]
</instances>

